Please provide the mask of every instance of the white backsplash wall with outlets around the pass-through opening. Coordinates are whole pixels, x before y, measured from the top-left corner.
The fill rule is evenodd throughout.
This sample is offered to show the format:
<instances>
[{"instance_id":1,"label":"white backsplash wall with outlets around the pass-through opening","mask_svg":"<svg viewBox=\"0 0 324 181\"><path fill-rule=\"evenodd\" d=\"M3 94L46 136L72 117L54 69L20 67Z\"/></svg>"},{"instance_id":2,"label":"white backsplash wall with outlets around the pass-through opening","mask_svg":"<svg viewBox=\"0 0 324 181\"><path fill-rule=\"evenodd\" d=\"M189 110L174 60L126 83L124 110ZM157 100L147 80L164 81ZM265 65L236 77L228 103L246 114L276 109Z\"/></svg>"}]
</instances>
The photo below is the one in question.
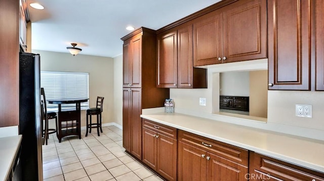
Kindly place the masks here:
<instances>
[{"instance_id":1,"label":"white backsplash wall with outlets around the pass-through opening","mask_svg":"<svg viewBox=\"0 0 324 181\"><path fill-rule=\"evenodd\" d=\"M224 66L224 65L222 65ZM229 66L229 65L227 65ZM231 70L231 68L229 68ZM197 115L206 118L216 117L216 120L228 120L230 123L293 134L319 140L324 140L324 121L322 118L324 93L320 91L268 91L267 123L246 121L231 117L222 118L219 110L219 71L208 69L207 89L170 89L170 96L174 98L176 112ZM207 98L207 106L199 105L199 97ZM218 99L217 99L218 98ZM295 104L310 104L313 106L313 117L295 116Z\"/></svg>"}]
</instances>

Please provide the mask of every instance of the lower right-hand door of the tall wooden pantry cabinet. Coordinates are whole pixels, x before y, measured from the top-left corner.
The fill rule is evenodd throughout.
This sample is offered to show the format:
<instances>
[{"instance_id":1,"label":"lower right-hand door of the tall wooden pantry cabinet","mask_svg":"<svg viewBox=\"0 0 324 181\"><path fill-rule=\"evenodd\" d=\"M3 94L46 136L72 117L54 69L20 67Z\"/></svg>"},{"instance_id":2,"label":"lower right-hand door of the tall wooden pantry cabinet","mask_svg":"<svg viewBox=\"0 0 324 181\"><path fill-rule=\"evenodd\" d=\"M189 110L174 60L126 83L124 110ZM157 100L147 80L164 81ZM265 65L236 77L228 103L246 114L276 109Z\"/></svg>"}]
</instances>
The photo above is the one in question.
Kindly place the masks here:
<instances>
[{"instance_id":1,"label":"lower right-hand door of the tall wooden pantry cabinet","mask_svg":"<svg viewBox=\"0 0 324 181\"><path fill-rule=\"evenodd\" d=\"M131 153L138 159L142 159L142 112L141 89L131 89Z\"/></svg>"}]
</instances>

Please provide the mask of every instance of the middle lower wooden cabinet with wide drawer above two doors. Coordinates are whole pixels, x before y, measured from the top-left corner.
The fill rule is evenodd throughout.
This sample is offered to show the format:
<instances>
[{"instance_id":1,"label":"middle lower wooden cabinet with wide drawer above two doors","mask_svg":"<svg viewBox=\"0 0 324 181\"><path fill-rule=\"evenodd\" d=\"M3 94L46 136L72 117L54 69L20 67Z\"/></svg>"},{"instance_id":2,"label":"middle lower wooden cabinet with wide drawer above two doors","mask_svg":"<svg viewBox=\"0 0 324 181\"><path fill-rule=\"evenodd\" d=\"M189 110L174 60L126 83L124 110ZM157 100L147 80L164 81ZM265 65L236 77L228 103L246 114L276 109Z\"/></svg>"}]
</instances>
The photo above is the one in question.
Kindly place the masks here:
<instances>
[{"instance_id":1,"label":"middle lower wooden cabinet with wide drawer above two doors","mask_svg":"<svg viewBox=\"0 0 324 181\"><path fill-rule=\"evenodd\" d=\"M178 131L178 180L248 180L248 150Z\"/></svg>"}]
</instances>

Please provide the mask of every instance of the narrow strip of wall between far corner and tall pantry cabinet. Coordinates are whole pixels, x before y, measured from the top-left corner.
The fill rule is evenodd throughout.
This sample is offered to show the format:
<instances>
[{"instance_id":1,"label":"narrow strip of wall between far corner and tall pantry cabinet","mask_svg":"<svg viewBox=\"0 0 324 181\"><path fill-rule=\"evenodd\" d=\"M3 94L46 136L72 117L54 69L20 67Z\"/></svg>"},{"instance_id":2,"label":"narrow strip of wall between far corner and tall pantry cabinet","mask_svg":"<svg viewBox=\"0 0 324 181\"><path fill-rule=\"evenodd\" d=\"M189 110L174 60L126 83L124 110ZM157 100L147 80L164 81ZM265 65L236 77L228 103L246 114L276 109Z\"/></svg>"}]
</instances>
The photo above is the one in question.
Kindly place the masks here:
<instances>
[{"instance_id":1,"label":"narrow strip of wall between far corner and tall pantry cabinet","mask_svg":"<svg viewBox=\"0 0 324 181\"><path fill-rule=\"evenodd\" d=\"M113 122L123 126L123 54L113 58Z\"/></svg>"}]
</instances>

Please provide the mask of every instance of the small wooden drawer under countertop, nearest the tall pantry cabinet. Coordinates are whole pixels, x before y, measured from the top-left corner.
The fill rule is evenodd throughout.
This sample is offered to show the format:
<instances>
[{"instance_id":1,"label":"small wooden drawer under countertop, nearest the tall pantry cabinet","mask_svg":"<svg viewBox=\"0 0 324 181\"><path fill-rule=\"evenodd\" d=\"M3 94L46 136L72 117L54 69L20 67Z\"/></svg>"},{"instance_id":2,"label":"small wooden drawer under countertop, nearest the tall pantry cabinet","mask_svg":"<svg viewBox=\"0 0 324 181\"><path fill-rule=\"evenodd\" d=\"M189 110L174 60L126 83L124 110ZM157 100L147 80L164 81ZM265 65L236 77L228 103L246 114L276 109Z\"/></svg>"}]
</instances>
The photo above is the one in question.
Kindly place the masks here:
<instances>
[{"instance_id":1,"label":"small wooden drawer under countertop, nearest the tall pantry cabinet","mask_svg":"<svg viewBox=\"0 0 324 181\"><path fill-rule=\"evenodd\" d=\"M159 124L159 123L156 123L151 120L144 119L144 118L142 121L142 125L144 128L148 128L153 131L156 131L157 133L164 134L165 136L168 136L175 140L177 139L177 129L176 128L172 128L172 127L169 127L169 126L166 126L163 124Z\"/></svg>"}]
</instances>

